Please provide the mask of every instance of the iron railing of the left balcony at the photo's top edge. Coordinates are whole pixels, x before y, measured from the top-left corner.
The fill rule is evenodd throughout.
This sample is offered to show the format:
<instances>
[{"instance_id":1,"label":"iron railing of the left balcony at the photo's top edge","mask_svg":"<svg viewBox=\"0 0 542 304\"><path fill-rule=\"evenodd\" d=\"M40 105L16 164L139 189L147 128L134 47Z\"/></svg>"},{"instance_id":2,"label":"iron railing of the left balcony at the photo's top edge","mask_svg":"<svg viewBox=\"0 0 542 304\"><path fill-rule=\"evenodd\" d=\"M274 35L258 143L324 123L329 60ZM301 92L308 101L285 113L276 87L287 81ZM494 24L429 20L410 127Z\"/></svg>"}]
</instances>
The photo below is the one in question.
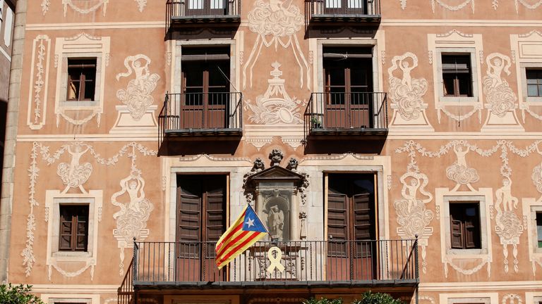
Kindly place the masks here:
<instances>
[{"instance_id":1,"label":"iron railing of the left balcony at the photo's top edge","mask_svg":"<svg viewBox=\"0 0 542 304\"><path fill-rule=\"evenodd\" d=\"M166 30L174 18L221 18L241 15L241 0L168 0Z\"/></svg>"}]
</instances>

